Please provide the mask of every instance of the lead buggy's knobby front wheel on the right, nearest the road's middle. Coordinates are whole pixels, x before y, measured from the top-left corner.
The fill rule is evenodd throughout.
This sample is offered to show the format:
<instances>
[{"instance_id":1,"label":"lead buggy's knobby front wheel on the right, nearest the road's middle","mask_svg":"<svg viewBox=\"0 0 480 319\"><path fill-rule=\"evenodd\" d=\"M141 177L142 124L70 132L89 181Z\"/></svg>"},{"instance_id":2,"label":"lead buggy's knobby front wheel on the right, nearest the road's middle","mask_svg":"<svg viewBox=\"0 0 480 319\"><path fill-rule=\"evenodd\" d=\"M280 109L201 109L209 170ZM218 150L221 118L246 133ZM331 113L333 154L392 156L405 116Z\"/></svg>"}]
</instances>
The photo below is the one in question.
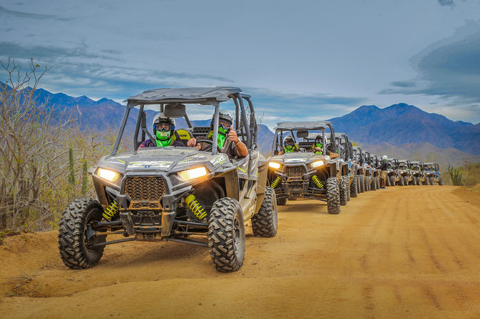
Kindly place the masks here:
<instances>
[{"instance_id":1,"label":"lead buggy's knobby front wheel on the right, nearest the road's middle","mask_svg":"<svg viewBox=\"0 0 480 319\"><path fill-rule=\"evenodd\" d=\"M218 271L238 271L245 260L245 221L236 199L217 199L208 217L208 247Z\"/></svg>"}]
</instances>

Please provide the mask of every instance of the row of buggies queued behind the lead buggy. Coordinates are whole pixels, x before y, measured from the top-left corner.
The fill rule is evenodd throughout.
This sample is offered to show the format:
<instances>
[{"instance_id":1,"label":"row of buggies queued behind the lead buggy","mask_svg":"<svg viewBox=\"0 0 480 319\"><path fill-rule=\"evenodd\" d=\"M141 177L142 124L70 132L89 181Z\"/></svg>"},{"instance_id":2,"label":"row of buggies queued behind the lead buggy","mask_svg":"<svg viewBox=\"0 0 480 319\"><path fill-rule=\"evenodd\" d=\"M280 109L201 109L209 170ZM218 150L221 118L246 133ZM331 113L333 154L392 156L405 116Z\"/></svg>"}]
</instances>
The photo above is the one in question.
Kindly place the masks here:
<instances>
[{"instance_id":1,"label":"row of buggies queued behind the lead buggy","mask_svg":"<svg viewBox=\"0 0 480 319\"><path fill-rule=\"evenodd\" d=\"M268 182L278 205L317 199L327 202L329 214L339 214L351 197L380 188L382 159L352 146L328 121L277 123L271 153ZM443 184L438 163L387 163L387 186Z\"/></svg>"}]
</instances>

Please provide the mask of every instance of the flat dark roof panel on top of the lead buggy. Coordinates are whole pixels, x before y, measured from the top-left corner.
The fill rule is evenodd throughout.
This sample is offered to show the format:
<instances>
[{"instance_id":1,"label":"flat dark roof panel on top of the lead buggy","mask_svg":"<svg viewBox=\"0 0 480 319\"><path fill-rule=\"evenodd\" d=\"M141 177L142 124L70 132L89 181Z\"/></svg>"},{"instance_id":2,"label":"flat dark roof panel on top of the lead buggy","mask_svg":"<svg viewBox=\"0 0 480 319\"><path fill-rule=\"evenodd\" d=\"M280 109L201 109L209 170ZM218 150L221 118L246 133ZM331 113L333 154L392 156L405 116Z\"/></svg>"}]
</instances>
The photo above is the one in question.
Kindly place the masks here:
<instances>
[{"instance_id":1,"label":"flat dark roof panel on top of the lead buggy","mask_svg":"<svg viewBox=\"0 0 480 319\"><path fill-rule=\"evenodd\" d=\"M217 105L230 100L230 95L241 93L242 97L250 95L233 86L217 86L215 88L156 88L146 90L138 95L133 95L123 102L128 105L162 104L162 103L198 103Z\"/></svg>"}]
</instances>

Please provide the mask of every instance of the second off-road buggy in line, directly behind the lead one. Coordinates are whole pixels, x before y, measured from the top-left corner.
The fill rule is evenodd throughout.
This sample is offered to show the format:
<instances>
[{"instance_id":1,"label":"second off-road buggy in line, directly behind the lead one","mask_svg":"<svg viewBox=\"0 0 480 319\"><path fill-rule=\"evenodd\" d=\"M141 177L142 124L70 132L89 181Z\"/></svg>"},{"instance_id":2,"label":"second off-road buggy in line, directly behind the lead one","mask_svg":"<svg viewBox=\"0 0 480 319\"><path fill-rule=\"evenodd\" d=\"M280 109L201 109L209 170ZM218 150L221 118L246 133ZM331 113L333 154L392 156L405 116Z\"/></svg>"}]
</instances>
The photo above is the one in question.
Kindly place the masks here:
<instances>
[{"instance_id":1,"label":"second off-road buggy in line, directly behind the lead one","mask_svg":"<svg viewBox=\"0 0 480 319\"><path fill-rule=\"evenodd\" d=\"M329 214L339 214L340 204L347 204L348 167L339 158L332 159L325 154L327 150L337 150L335 137L327 143L325 130L330 130L335 136L330 122L277 123L273 156L269 159L268 184L275 189L278 204L300 197L318 199L327 202ZM309 139L309 132L320 135L323 145L321 154L310 152L313 142ZM300 152L278 155L285 136L294 139ZM297 142L296 138L302 140Z\"/></svg>"}]
</instances>

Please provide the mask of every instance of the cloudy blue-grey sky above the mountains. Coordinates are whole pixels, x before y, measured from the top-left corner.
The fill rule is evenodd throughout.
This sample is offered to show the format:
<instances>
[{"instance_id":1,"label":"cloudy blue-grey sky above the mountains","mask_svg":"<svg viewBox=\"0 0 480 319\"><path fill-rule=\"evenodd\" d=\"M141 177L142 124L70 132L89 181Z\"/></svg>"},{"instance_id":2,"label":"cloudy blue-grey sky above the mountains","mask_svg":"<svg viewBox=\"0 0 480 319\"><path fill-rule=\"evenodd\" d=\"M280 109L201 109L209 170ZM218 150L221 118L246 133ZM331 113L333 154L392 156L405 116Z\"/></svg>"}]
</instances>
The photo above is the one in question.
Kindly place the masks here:
<instances>
[{"instance_id":1,"label":"cloudy blue-grey sky above the mountains","mask_svg":"<svg viewBox=\"0 0 480 319\"><path fill-rule=\"evenodd\" d=\"M235 85L269 126L401 102L480 122L480 0L3 0L0 34L53 93Z\"/></svg>"}]
</instances>

